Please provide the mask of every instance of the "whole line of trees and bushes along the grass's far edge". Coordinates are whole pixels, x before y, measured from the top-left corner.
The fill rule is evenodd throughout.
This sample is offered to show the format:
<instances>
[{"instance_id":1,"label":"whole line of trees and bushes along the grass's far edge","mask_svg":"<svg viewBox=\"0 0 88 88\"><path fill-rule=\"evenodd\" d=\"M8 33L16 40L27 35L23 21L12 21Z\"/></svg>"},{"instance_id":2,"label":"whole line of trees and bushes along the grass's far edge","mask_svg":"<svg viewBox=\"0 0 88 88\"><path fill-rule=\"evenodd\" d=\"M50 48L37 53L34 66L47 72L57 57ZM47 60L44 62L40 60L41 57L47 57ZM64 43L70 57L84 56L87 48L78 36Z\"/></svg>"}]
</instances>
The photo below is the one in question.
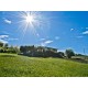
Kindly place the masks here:
<instances>
[{"instance_id":1,"label":"whole line of trees and bushes along the grass's far edge","mask_svg":"<svg viewBox=\"0 0 88 88\"><path fill-rule=\"evenodd\" d=\"M61 58L72 58L77 54L73 50L66 50L64 52L58 52L57 48L46 47L46 46L9 46L8 44L0 42L0 53L16 53L20 55L26 55L32 57L61 57Z\"/></svg>"}]
</instances>

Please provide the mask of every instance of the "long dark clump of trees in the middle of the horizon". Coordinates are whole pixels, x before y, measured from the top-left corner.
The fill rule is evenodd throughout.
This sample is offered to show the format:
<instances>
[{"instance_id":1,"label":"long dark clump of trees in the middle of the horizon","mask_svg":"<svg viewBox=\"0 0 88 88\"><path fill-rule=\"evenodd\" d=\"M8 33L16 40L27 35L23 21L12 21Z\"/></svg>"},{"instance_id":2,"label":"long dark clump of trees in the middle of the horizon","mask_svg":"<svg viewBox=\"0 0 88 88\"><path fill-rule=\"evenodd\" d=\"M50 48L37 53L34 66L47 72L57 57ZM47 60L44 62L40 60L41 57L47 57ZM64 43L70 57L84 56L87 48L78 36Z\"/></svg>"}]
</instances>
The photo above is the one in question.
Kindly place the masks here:
<instances>
[{"instance_id":1,"label":"long dark clump of trees in the middle of the horizon","mask_svg":"<svg viewBox=\"0 0 88 88\"><path fill-rule=\"evenodd\" d=\"M34 56L34 57L64 57L64 53L57 52L53 47L44 46L20 46L20 51L23 55Z\"/></svg>"}]
</instances>

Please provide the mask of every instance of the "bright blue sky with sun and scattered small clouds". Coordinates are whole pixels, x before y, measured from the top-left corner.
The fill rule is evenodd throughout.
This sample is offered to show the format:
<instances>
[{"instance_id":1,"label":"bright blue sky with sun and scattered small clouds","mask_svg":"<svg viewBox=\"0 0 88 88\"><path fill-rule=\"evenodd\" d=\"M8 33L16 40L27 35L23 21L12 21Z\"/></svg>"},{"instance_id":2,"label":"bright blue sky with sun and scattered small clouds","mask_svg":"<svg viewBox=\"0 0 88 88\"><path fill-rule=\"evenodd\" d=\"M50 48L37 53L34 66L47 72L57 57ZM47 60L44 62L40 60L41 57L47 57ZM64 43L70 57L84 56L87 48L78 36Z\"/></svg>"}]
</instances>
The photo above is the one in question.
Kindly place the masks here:
<instances>
[{"instance_id":1,"label":"bright blue sky with sun and scattered small clouds","mask_svg":"<svg viewBox=\"0 0 88 88\"><path fill-rule=\"evenodd\" d=\"M88 11L0 11L0 42L88 54Z\"/></svg>"}]
</instances>

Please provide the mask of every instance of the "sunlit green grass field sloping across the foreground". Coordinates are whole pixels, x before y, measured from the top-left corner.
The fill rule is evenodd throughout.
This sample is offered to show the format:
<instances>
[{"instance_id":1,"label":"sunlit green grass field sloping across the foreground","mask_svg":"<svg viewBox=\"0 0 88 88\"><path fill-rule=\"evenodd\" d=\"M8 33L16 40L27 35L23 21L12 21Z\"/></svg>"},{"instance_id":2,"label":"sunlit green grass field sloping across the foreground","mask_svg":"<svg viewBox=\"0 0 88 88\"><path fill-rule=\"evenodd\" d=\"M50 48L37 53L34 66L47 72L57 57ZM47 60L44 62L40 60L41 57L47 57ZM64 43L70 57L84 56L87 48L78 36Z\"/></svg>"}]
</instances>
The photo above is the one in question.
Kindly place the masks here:
<instances>
[{"instance_id":1,"label":"sunlit green grass field sloping across the foreground","mask_svg":"<svg viewBox=\"0 0 88 88\"><path fill-rule=\"evenodd\" d=\"M88 64L0 53L0 77L87 77Z\"/></svg>"}]
</instances>

